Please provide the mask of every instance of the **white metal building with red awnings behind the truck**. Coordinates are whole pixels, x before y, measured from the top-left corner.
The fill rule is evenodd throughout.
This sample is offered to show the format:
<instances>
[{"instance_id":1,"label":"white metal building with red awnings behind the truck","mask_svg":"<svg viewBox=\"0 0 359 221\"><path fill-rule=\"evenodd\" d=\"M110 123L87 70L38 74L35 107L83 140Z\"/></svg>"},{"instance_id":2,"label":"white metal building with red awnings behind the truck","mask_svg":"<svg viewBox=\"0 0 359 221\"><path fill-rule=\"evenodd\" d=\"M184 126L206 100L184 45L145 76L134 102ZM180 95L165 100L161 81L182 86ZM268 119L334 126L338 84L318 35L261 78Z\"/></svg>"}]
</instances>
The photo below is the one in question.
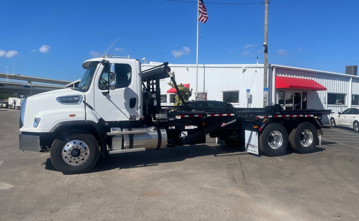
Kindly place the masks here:
<instances>
[{"instance_id":1,"label":"white metal building with red awnings behind the truck","mask_svg":"<svg viewBox=\"0 0 359 221\"><path fill-rule=\"evenodd\" d=\"M150 62L142 68L156 66ZM196 65L170 64L177 84L189 84L195 100ZM359 76L283 65L268 65L268 105L282 104L284 109L331 109L337 113L359 107ZM263 107L264 65L199 65L198 93L207 100L232 103L235 107ZM299 79L298 79L299 78ZM170 79L161 81L161 103L171 105L175 90ZM172 89L172 90L171 90ZM250 89L250 98L246 98ZM323 123L329 118L323 117Z\"/></svg>"}]
</instances>

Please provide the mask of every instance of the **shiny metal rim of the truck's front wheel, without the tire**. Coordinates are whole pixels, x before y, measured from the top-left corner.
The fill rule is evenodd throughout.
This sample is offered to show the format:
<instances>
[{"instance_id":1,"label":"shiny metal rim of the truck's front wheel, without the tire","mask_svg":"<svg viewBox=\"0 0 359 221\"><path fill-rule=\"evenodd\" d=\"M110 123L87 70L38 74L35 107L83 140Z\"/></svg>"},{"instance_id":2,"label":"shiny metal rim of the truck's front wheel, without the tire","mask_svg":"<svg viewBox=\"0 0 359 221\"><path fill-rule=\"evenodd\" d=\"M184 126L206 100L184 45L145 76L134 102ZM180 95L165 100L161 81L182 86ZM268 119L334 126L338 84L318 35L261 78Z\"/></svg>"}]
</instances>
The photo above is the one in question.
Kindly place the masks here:
<instances>
[{"instance_id":1,"label":"shiny metal rim of the truck's front wheel, without the tire","mask_svg":"<svg viewBox=\"0 0 359 221\"><path fill-rule=\"evenodd\" d=\"M87 144L81 140L71 140L62 148L62 159L70 165L86 163L89 154Z\"/></svg>"}]
</instances>

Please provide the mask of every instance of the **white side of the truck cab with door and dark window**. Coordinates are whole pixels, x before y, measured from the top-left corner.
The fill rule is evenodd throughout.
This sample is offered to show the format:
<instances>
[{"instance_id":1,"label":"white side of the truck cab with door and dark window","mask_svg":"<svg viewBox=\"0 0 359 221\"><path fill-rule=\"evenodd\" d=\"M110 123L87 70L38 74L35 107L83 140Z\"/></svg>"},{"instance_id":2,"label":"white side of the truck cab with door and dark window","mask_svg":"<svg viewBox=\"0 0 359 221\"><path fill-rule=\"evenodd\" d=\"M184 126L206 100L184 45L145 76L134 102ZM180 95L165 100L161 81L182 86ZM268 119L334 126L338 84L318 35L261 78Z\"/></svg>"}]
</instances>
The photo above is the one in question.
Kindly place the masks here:
<instances>
[{"instance_id":1,"label":"white side of the truck cab with door and dark window","mask_svg":"<svg viewBox=\"0 0 359 221\"><path fill-rule=\"evenodd\" d=\"M110 63L118 62L108 59ZM112 61L112 62L111 62ZM101 65L94 79L94 110L104 121L139 120L136 61L121 59L115 63L115 90L108 93L109 65Z\"/></svg>"}]
</instances>

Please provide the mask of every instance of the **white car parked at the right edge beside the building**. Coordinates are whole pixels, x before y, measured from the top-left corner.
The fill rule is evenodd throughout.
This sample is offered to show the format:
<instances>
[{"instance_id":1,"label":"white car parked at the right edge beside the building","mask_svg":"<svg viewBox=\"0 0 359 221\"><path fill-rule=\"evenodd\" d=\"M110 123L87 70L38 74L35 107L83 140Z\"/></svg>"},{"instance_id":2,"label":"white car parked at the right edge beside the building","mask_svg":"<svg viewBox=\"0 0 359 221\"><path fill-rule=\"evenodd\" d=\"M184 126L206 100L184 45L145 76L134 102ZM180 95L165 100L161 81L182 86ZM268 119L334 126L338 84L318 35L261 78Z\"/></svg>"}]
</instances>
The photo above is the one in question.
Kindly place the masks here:
<instances>
[{"instance_id":1,"label":"white car parked at the right edge beside the building","mask_svg":"<svg viewBox=\"0 0 359 221\"><path fill-rule=\"evenodd\" d=\"M355 132L359 132L359 108L348 108L343 112L333 115L330 118L330 124L332 127L349 127Z\"/></svg>"}]
</instances>

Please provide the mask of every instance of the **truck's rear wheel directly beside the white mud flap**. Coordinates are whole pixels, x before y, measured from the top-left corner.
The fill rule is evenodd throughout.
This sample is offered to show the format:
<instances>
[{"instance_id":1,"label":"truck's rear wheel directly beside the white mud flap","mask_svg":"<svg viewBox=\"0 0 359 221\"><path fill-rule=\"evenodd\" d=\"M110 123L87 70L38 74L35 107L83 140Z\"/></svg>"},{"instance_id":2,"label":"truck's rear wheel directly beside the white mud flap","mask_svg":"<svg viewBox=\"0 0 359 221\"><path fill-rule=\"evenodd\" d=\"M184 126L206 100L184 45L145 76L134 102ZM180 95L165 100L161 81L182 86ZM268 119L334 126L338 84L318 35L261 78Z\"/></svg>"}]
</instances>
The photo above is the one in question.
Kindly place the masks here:
<instances>
[{"instance_id":1,"label":"truck's rear wheel directly beside the white mud flap","mask_svg":"<svg viewBox=\"0 0 359 221\"><path fill-rule=\"evenodd\" d=\"M280 156L288 146L288 133L279 123L269 124L259 137L259 148L267 156Z\"/></svg>"}]
</instances>

